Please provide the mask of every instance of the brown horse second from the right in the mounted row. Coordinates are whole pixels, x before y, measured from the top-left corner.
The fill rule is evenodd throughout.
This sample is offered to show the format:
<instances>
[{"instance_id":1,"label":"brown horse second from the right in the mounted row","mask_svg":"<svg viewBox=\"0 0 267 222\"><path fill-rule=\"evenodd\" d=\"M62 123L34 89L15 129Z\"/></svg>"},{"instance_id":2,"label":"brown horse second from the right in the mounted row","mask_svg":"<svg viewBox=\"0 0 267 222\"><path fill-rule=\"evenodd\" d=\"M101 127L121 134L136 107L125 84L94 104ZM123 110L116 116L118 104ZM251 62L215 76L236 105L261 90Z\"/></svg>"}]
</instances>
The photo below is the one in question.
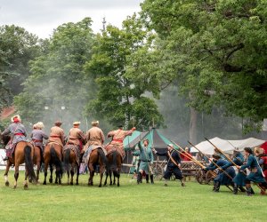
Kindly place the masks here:
<instances>
[{"instance_id":1,"label":"brown horse second from the right in the mounted row","mask_svg":"<svg viewBox=\"0 0 267 222\"><path fill-rule=\"evenodd\" d=\"M109 168L109 163L106 155L102 151L101 147L93 149L89 161L88 161L88 169L90 171L90 177L88 179L88 186L93 186L93 176L94 176L94 166L99 164L100 165L100 183L99 187L102 186L102 178L104 174L105 167Z\"/></svg>"}]
</instances>

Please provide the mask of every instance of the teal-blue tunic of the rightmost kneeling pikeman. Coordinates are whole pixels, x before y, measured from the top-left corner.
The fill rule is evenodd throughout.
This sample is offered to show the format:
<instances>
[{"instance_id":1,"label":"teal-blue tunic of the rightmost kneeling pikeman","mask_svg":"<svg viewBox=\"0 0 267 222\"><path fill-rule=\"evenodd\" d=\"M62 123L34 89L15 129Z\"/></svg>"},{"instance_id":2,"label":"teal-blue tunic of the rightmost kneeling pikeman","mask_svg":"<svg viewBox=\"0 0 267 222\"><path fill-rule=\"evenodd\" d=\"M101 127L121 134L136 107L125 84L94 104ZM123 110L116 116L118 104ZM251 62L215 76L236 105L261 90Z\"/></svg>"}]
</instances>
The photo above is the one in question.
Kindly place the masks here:
<instances>
[{"instance_id":1,"label":"teal-blue tunic of the rightmost kneeling pikeman","mask_svg":"<svg viewBox=\"0 0 267 222\"><path fill-rule=\"evenodd\" d=\"M247 180L253 181L255 183L264 183L265 179L263 178L262 169L257 163L257 160L254 155L249 155L247 158L247 163L241 166L240 170L245 170L249 168L250 173L247 175Z\"/></svg>"}]
</instances>

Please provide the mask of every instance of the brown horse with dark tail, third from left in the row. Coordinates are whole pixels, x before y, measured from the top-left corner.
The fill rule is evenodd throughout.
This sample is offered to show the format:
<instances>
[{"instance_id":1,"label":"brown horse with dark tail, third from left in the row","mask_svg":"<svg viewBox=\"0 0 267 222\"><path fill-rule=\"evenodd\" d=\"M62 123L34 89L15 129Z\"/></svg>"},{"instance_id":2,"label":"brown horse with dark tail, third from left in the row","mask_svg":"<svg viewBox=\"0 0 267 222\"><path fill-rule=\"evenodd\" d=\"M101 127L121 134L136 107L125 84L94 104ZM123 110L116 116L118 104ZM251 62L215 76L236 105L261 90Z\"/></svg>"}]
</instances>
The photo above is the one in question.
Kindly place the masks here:
<instances>
[{"instance_id":1,"label":"brown horse with dark tail, third from left in the row","mask_svg":"<svg viewBox=\"0 0 267 222\"><path fill-rule=\"evenodd\" d=\"M46 185L47 169L50 165L49 182L53 183L53 165L56 168L55 183L61 185L63 175L62 167L62 146L56 142L50 142L44 147L44 185Z\"/></svg>"}]
</instances>

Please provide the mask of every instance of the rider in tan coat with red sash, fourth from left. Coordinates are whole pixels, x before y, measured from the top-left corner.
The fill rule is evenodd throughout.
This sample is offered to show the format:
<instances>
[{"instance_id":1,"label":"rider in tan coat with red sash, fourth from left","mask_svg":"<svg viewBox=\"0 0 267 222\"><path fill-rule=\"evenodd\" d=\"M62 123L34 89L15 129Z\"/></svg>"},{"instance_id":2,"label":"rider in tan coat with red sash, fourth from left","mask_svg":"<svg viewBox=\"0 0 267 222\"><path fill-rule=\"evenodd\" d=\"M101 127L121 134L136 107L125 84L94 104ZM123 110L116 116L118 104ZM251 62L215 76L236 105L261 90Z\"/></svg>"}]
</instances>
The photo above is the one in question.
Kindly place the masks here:
<instances>
[{"instance_id":1,"label":"rider in tan coat with red sash, fourth from left","mask_svg":"<svg viewBox=\"0 0 267 222\"><path fill-rule=\"evenodd\" d=\"M74 122L73 128L69 130L69 140L67 144L72 144L79 147L79 151L83 149L85 143L85 134L79 129L80 122Z\"/></svg>"}]
</instances>

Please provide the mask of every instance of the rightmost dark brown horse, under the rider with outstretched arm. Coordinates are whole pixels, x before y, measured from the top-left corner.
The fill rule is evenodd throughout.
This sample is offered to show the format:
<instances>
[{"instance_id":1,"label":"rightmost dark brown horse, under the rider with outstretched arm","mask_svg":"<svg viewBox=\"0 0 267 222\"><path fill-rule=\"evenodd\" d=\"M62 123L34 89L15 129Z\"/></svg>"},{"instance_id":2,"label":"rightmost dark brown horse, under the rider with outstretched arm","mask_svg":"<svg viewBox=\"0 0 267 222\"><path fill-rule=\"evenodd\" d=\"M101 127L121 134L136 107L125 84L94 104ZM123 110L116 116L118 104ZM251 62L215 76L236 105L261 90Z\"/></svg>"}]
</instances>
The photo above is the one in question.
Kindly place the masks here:
<instances>
[{"instance_id":1,"label":"rightmost dark brown horse, under the rider with outstretched arm","mask_svg":"<svg viewBox=\"0 0 267 222\"><path fill-rule=\"evenodd\" d=\"M117 178L117 186L119 186L119 177L120 177L120 170L121 170L121 165L122 165L122 158L117 153L117 150L114 150L113 152L109 153L107 157L108 157L108 162L109 162L109 170L107 170L107 173L106 173L104 186L107 185L108 177L110 178L109 185L116 185L115 178ZM112 173L114 175L113 183L111 179Z\"/></svg>"}]
</instances>

